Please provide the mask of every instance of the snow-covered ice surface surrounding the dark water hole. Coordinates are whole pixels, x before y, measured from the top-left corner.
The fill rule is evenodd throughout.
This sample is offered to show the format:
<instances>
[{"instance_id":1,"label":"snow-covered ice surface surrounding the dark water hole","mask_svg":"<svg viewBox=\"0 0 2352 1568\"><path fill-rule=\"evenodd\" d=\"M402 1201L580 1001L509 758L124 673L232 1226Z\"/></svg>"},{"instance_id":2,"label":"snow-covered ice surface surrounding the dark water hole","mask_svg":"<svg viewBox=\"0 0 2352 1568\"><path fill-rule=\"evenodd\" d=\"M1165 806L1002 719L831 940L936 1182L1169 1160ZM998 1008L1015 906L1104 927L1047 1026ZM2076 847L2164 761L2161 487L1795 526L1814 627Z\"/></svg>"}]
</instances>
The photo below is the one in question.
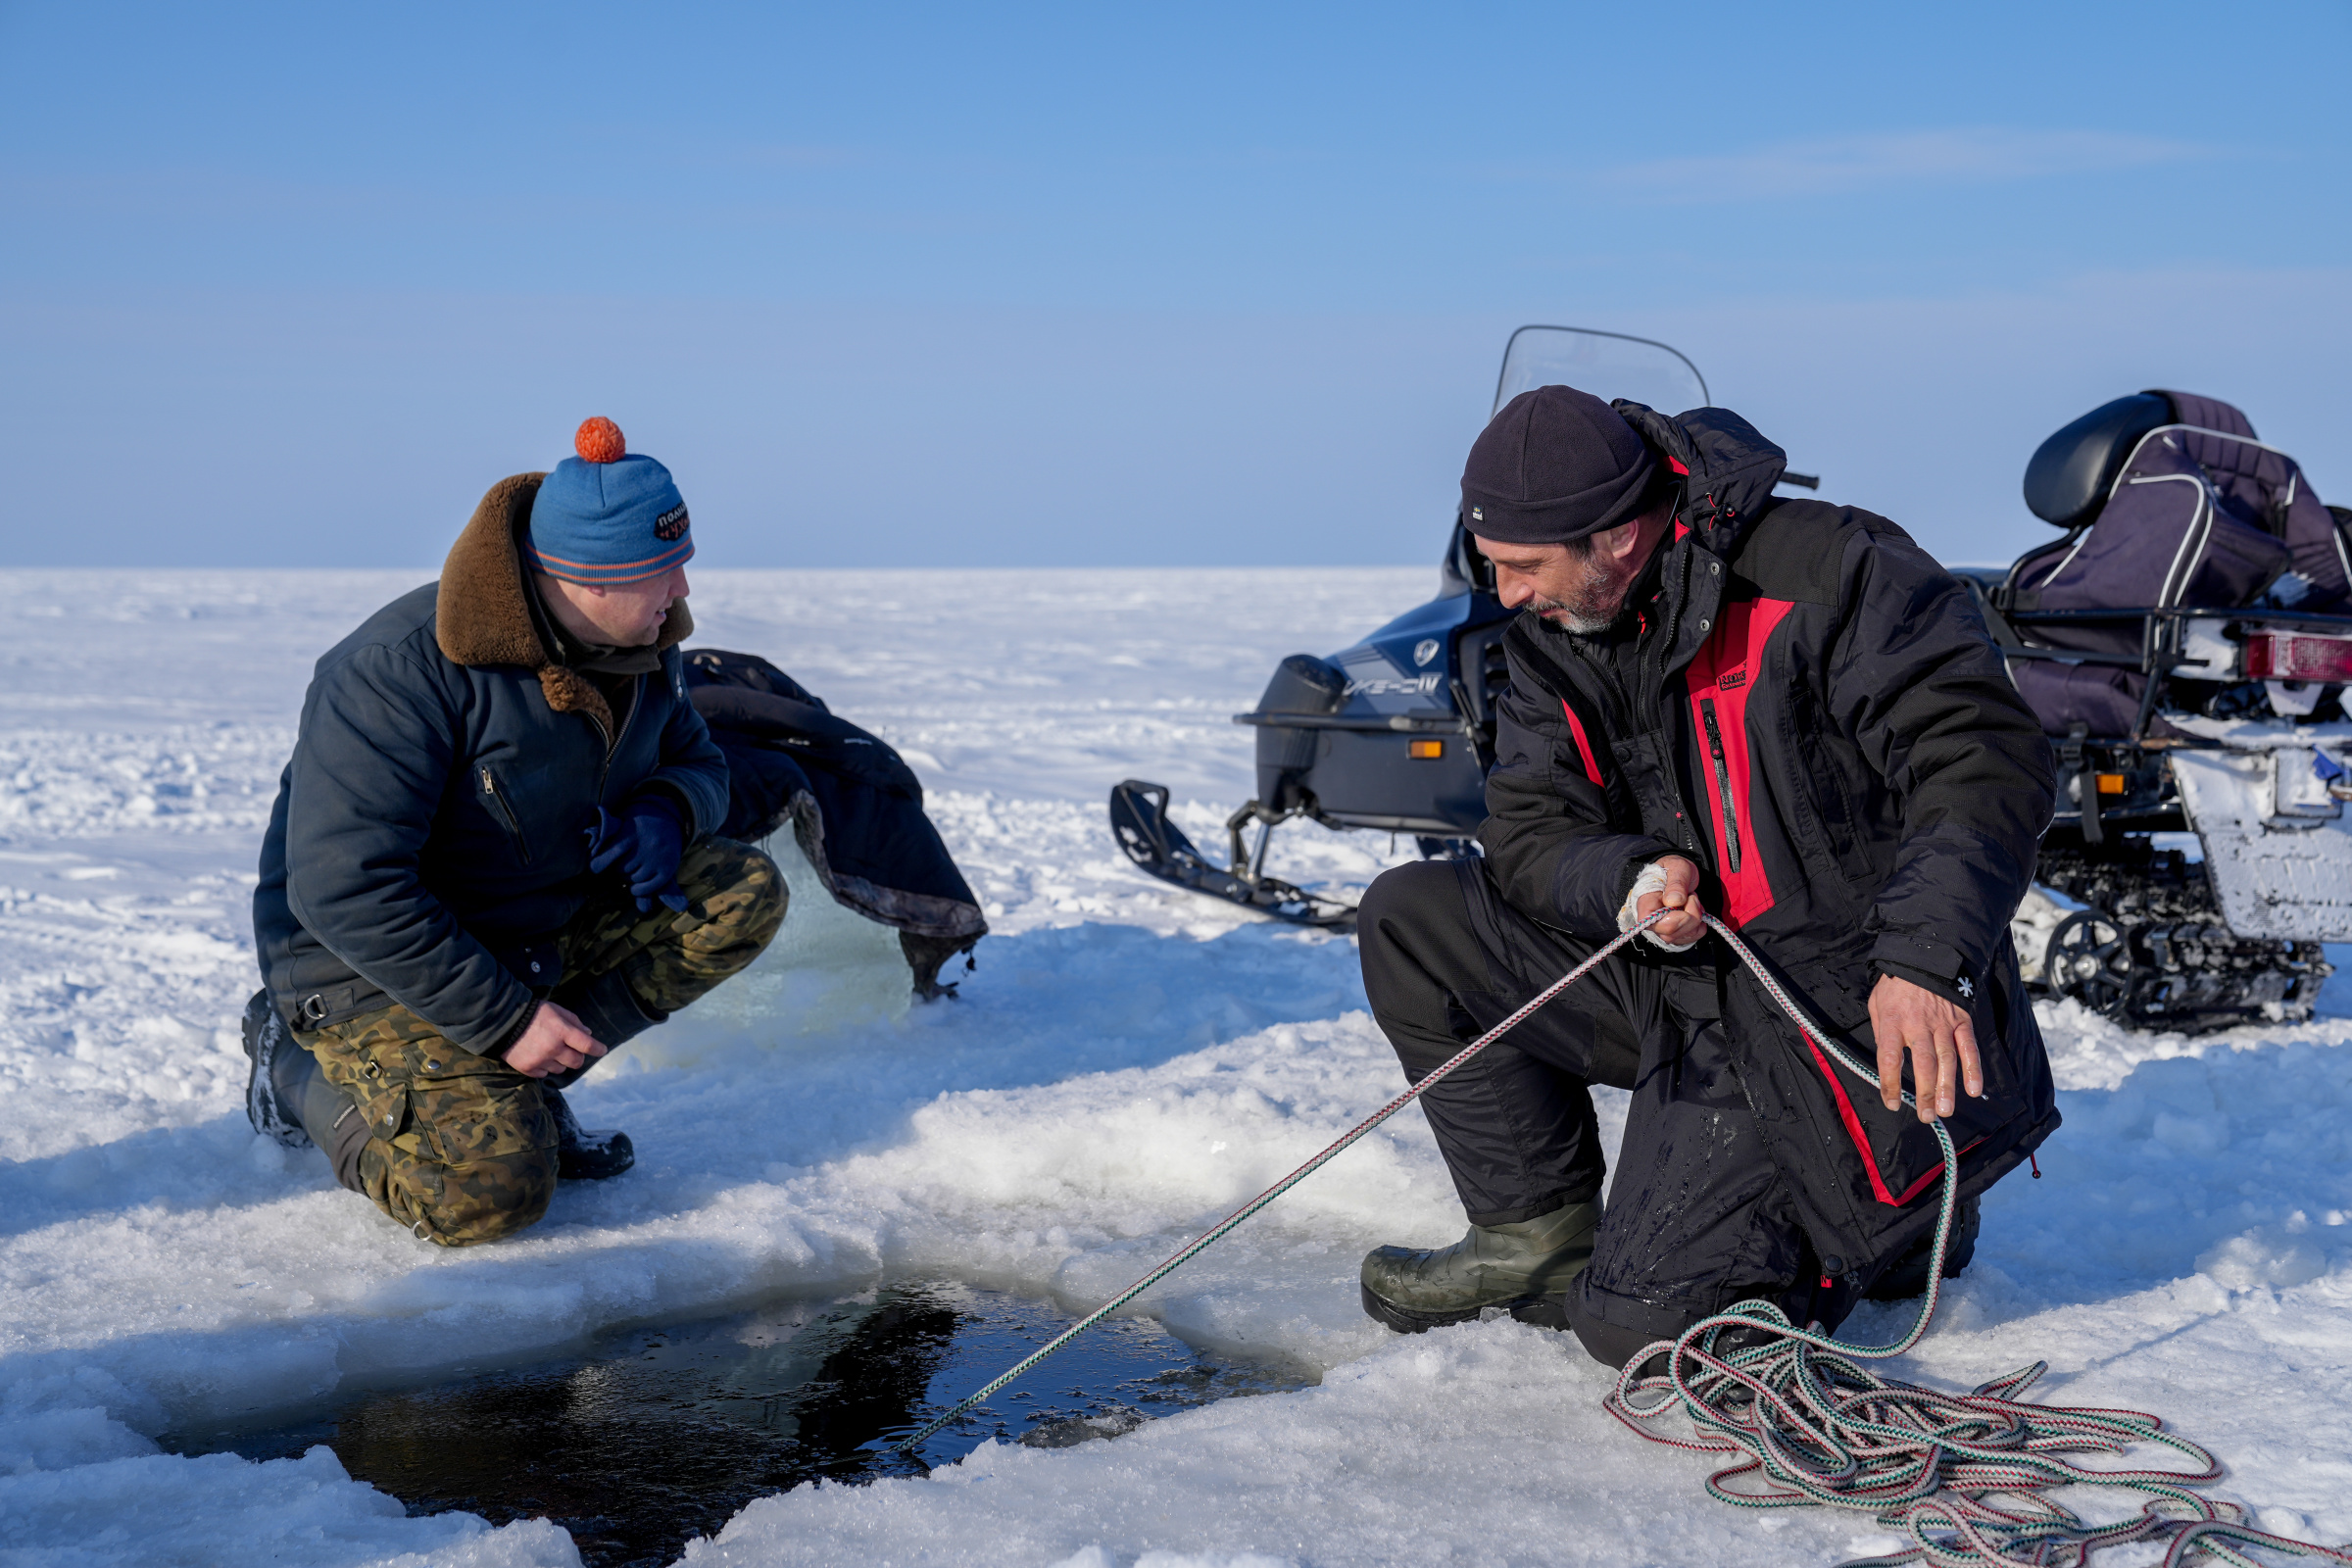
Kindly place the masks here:
<instances>
[{"instance_id":1,"label":"snow-covered ice surface surrounding the dark water hole","mask_svg":"<svg viewBox=\"0 0 2352 1568\"><path fill-rule=\"evenodd\" d=\"M0 576L0 1563L574 1563L546 1521L407 1519L325 1448L155 1439L532 1359L776 1291L953 1274L1089 1307L1395 1093L1345 938L1136 875L1157 778L1214 842L1275 661L1435 571L696 574L696 642L767 654L896 743L995 936L955 1004L793 865L786 940L576 1100L640 1166L527 1237L440 1251L245 1126L254 846L310 661L430 574ZM1378 835L1284 830L1362 886ZM1907 1375L2046 1356L2051 1399L2166 1413L2265 1526L2352 1537L2352 1020L2140 1037L2044 1009L2065 1131L1985 1204ZM1611 1107L1613 1110L1613 1107ZM1110 1443L750 1505L689 1563L1813 1563L1867 1521L1736 1514L1510 1321L1397 1338L1378 1241L1461 1229L1404 1112L1141 1309L1324 1368ZM1856 1333L1891 1335L1898 1309ZM1900 1368L1898 1368L1900 1375Z\"/></svg>"}]
</instances>

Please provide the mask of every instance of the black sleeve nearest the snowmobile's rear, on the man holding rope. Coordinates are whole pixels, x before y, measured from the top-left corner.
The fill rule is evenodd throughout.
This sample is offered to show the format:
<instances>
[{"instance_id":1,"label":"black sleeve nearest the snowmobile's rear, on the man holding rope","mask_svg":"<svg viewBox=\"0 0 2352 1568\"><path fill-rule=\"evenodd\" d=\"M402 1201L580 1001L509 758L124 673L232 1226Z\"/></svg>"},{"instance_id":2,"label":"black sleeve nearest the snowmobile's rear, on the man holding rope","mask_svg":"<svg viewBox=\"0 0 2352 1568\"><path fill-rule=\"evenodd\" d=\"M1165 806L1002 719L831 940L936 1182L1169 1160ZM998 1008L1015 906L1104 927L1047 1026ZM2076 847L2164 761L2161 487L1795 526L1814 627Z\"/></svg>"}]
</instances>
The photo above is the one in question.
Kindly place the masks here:
<instances>
[{"instance_id":1,"label":"black sleeve nearest the snowmobile's rear, on the man holding rope","mask_svg":"<svg viewBox=\"0 0 2352 1568\"><path fill-rule=\"evenodd\" d=\"M1976 980L2009 933L2051 820L2049 741L1966 590L1910 538L1849 538L1839 611L1830 717L1903 811L1870 957Z\"/></svg>"}]
</instances>

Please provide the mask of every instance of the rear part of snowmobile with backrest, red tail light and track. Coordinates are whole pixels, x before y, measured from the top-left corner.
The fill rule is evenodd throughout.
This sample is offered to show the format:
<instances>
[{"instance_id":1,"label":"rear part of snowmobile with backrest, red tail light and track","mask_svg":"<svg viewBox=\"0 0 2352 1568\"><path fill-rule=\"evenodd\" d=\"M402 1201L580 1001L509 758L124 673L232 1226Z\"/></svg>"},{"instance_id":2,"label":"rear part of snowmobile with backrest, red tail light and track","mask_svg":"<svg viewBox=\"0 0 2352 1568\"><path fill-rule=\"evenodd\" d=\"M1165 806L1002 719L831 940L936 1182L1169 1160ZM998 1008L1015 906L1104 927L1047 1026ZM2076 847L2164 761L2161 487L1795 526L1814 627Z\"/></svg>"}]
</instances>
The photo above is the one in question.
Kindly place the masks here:
<instances>
[{"instance_id":1,"label":"rear part of snowmobile with backrest, red tail light and track","mask_svg":"<svg viewBox=\"0 0 2352 1568\"><path fill-rule=\"evenodd\" d=\"M2136 1027L2310 1018L2352 940L2352 512L2187 393L2051 435L2025 505L2063 538L1959 576L2058 750L2034 879L2077 907L2027 978Z\"/></svg>"}]
</instances>

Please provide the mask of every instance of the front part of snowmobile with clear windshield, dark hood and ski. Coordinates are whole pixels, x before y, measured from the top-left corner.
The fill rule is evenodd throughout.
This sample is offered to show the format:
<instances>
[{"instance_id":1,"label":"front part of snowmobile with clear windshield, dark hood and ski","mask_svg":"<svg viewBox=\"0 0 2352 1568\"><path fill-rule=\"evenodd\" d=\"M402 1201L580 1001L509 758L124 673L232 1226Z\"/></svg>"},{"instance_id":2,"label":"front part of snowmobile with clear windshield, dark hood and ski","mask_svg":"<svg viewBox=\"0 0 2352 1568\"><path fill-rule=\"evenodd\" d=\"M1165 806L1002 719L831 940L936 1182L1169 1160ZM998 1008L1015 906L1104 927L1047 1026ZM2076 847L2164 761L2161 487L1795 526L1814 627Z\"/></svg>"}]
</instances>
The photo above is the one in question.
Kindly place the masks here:
<instances>
[{"instance_id":1,"label":"front part of snowmobile with clear windshield, dark hood and ski","mask_svg":"<svg viewBox=\"0 0 2352 1568\"><path fill-rule=\"evenodd\" d=\"M1552 383L1653 409L1710 404L1698 367L1665 343L1583 327L1519 327L1503 348L1489 416ZM1783 484L1818 480L1785 475ZM1494 567L1461 517L1451 527L1435 599L1329 658L1291 654L1258 705L1235 715L1235 724L1256 731L1258 795L1225 823L1223 865L1169 820L1162 785L1129 778L1110 792L1112 835L1138 867L1275 919L1345 931L1355 905L1268 875L1277 825L1303 818L1334 830L1414 835L1423 858L1479 853L1472 835L1486 818L1494 703L1510 679L1503 632L1517 611L1503 609Z\"/></svg>"}]
</instances>

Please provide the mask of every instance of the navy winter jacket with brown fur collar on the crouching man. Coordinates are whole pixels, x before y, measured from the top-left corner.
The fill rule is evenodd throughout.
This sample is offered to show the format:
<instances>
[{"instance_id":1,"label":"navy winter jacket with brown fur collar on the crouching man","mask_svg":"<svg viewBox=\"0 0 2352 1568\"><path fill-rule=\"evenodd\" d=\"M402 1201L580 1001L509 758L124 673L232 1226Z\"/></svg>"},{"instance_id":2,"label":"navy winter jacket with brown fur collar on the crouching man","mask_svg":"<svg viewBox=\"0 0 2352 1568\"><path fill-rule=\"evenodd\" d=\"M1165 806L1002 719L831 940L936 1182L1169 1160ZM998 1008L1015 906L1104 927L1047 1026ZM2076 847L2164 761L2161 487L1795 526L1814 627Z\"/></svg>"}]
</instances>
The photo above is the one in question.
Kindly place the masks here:
<instances>
[{"instance_id":1,"label":"navy winter jacket with brown fur collar on the crouching man","mask_svg":"<svg viewBox=\"0 0 2352 1568\"><path fill-rule=\"evenodd\" d=\"M661 672L616 703L534 628L515 534L541 477L492 487L440 583L318 661L254 891L263 980L299 1030L400 1001L487 1051L560 978L555 936L597 891L600 804L659 790L689 837L727 818L675 646L684 604Z\"/></svg>"}]
</instances>

